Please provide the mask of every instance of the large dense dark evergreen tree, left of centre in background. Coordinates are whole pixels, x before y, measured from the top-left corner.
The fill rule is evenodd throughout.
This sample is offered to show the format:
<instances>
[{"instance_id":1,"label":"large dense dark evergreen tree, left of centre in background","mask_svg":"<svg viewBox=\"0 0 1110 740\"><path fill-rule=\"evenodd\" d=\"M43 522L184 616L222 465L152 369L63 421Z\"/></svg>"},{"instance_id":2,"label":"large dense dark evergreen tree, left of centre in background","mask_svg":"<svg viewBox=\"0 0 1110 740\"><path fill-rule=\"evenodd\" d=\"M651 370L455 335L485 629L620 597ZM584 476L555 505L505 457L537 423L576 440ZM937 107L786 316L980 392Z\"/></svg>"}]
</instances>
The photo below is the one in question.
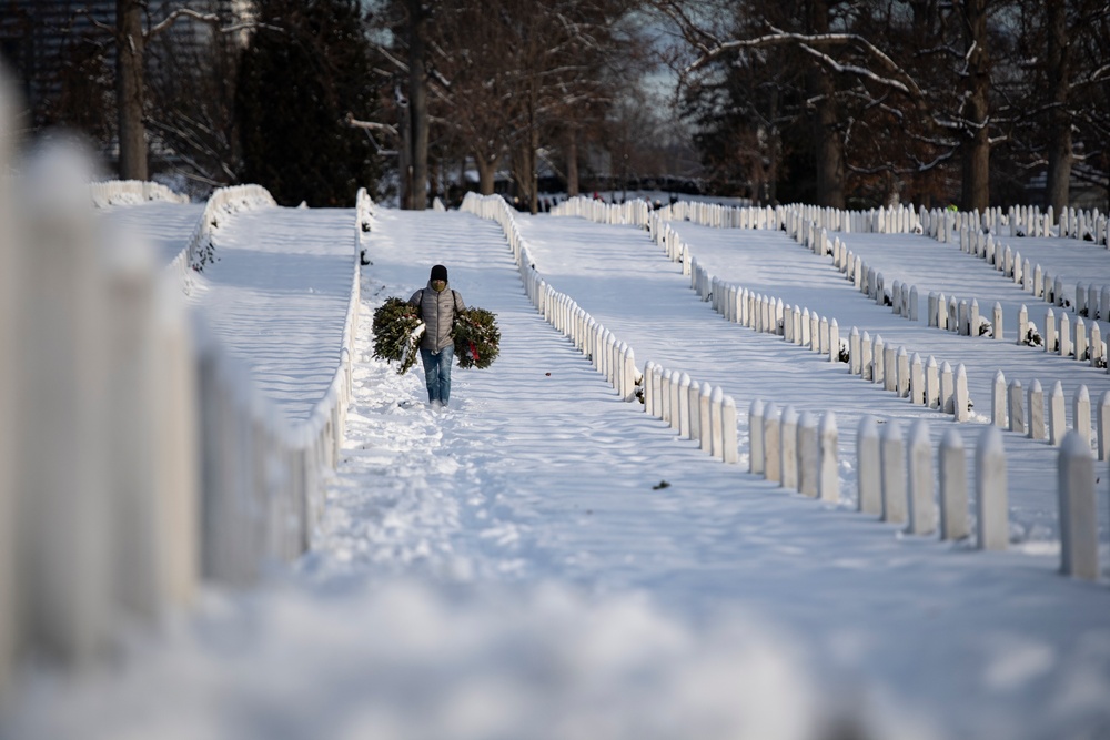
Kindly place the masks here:
<instances>
[{"instance_id":1,"label":"large dense dark evergreen tree, left of centre in background","mask_svg":"<svg viewBox=\"0 0 1110 740\"><path fill-rule=\"evenodd\" d=\"M241 180L283 205L351 205L377 175L373 144L345 124L375 118L360 3L270 0L259 23L239 71Z\"/></svg>"}]
</instances>

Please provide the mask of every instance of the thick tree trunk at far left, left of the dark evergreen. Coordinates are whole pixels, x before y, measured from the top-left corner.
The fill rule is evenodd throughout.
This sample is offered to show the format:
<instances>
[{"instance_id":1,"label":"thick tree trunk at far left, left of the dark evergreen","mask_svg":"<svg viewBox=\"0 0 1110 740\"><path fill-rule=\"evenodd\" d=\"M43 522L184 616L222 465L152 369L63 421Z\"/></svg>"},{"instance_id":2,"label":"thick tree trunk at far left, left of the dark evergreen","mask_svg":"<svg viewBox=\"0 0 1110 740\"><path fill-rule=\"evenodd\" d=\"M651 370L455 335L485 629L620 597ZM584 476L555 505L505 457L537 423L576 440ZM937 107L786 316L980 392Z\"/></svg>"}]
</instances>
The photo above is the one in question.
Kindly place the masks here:
<instances>
[{"instance_id":1,"label":"thick tree trunk at far left, left of the dark evergreen","mask_svg":"<svg viewBox=\"0 0 1110 740\"><path fill-rule=\"evenodd\" d=\"M149 180L143 109L142 6L115 0L115 107L119 116L120 179Z\"/></svg>"}]
</instances>

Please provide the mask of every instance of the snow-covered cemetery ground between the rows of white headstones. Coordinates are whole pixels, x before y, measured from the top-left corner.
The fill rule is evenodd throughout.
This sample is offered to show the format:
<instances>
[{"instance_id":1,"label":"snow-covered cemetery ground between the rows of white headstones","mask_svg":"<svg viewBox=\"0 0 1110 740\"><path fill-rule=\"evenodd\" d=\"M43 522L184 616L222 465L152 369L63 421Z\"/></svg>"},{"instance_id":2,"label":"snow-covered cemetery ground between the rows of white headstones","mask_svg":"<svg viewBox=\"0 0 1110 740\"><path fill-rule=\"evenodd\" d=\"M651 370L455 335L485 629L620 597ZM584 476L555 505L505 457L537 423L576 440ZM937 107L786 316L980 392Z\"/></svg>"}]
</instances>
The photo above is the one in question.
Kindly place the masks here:
<instances>
[{"instance_id":1,"label":"snow-covered cemetery ground between the rows of white headstones","mask_svg":"<svg viewBox=\"0 0 1110 740\"><path fill-rule=\"evenodd\" d=\"M846 491L860 414L926 417L934 436L952 424L842 365L724 322L644 232L518 217L537 268L628 342L640 364L656 359L720 384L740 408L756 396L834 408ZM281 358L291 367L323 362L325 346L337 352L337 336L297 343L329 317L342 322L340 296L310 298L299 287L302 313L314 321L266 310L290 297L275 288L294 276L264 272L282 263L263 244L323 244L323 233L339 234L353 219L236 215L225 242L243 247L232 287L253 308L218 314L226 341L249 347L260 331L283 337L281 346L301 347ZM916 351L967 363L972 383L975 357L996 352L987 339L951 337L868 305L793 243L745 249L746 236L684 231L722 277L735 264L736 282L764 280L784 300L799 291L799 304L829 316L858 311L859 322L840 322L845 330L866 320L886 336L889 323L891 335L909 332L906 344L920 343ZM195 614L153 639L133 639L108 673L38 675L23 687L10 737L1110 731L1110 589L1056 572L1054 454L1045 443L1006 438L1016 551L906 536L854 513L850 500L823 505L743 464L715 462L638 404L620 402L536 314L492 222L384 211L369 254L347 440L312 551L255 591L206 591ZM398 376L372 358L370 331L373 308L423 286L437 262L467 305L497 314L503 335L491 368L456 368L443 413L424 403L418 368ZM233 266L229 256L229 274ZM293 268L299 286L315 285L317 274L334 282L323 249ZM1005 348L1008 362L1031 358L1036 377L1087 382L1074 379L1086 378L1078 363L1005 344L982 362L1009 358ZM989 407L975 386L972 397L977 410ZM973 444L981 427L962 428ZM741 415L741 447L746 437ZM1104 511L1104 484L1100 491Z\"/></svg>"}]
</instances>

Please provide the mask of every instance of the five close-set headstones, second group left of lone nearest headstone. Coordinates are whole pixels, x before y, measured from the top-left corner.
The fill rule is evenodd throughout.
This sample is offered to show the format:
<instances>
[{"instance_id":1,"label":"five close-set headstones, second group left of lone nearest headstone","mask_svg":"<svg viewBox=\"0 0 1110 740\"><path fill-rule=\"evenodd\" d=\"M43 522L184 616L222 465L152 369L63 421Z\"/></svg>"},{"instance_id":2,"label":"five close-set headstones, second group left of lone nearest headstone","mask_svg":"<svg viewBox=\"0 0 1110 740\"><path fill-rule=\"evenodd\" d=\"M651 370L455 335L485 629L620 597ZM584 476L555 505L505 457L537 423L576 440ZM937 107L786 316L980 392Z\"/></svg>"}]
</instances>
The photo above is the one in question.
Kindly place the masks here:
<instances>
[{"instance_id":1,"label":"five close-set headstones, second group left of lone nearest headstone","mask_svg":"<svg viewBox=\"0 0 1110 740\"><path fill-rule=\"evenodd\" d=\"M818 420L809 412L799 415L794 406L779 409L774 402L757 398L748 408L748 436L749 473L781 488L839 503L839 438L833 412Z\"/></svg>"}]
</instances>

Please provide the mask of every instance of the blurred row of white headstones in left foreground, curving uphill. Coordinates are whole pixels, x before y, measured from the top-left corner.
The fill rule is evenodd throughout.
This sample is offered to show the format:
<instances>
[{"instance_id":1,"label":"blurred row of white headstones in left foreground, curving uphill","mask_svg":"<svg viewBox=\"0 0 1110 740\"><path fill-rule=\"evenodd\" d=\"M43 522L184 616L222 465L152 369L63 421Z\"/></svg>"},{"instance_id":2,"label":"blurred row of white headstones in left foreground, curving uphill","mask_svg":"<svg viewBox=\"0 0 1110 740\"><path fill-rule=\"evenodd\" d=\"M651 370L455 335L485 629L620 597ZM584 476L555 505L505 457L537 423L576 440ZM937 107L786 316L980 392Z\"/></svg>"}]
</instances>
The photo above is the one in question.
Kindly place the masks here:
<instances>
[{"instance_id":1,"label":"blurred row of white headstones in left foreground, curving uphill","mask_svg":"<svg viewBox=\"0 0 1110 740\"><path fill-rule=\"evenodd\" d=\"M297 557L342 446L357 261L332 386L290 424L190 314L182 273L109 237L90 180L80 153L48 148L18 191L0 182L0 685L26 652L88 663L202 579L244 584Z\"/></svg>"}]
</instances>

